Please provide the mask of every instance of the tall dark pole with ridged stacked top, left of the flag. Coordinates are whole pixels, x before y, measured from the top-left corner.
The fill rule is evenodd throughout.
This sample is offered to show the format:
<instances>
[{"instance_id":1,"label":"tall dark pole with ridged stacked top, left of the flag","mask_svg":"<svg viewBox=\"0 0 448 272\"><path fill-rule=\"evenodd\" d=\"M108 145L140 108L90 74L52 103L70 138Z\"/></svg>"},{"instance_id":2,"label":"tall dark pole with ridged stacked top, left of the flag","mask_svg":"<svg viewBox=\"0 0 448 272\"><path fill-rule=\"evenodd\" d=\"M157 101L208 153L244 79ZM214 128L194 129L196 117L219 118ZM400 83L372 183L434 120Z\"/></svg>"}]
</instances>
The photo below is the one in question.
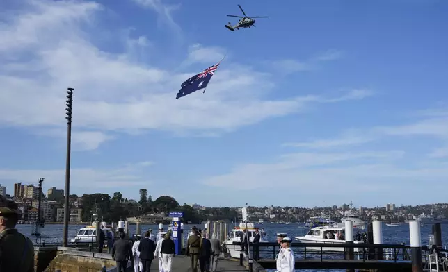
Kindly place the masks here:
<instances>
[{"instance_id":1,"label":"tall dark pole with ridged stacked top, left of the flag","mask_svg":"<svg viewBox=\"0 0 448 272\"><path fill-rule=\"evenodd\" d=\"M69 207L69 196L70 196L70 150L72 143L72 102L73 102L73 88L67 88L67 161L65 164L65 198L64 198L64 237L63 246L68 244L68 221L70 219L70 207Z\"/></svg>"}]
</instances>

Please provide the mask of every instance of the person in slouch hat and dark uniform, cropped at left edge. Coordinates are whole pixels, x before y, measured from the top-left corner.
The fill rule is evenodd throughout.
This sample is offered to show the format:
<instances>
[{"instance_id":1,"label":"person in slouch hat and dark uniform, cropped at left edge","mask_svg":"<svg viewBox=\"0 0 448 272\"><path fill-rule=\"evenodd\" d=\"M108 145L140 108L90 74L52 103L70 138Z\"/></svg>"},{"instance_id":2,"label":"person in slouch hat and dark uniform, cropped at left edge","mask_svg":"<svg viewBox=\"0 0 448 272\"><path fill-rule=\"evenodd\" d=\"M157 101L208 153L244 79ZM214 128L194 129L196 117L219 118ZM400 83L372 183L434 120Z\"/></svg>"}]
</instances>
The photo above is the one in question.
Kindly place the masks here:
<instances>
[{"instance_id":1,"label":"person in slouch hat and dark uniform, cropped at left edge","mask_svg":"<svg viewBox=\"0 0 448 272\"><path fill-rule=\"evenodd\" d=\"M0 196L0 271L33 272L33 242L15 228L17 203Z\"/></svg>"}]
</instances>

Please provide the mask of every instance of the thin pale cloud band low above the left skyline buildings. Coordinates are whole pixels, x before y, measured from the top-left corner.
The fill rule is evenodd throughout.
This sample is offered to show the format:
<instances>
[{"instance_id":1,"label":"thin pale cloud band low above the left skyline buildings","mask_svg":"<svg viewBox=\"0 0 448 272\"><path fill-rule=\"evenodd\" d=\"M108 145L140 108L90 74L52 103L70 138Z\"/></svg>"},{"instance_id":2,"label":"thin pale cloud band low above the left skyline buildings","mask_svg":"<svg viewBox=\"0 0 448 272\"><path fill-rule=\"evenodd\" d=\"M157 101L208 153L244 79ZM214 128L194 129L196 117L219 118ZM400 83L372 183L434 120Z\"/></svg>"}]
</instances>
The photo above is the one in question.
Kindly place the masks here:
<instances>
[{"instance_id":1,"label":"thin pale cloud band low above the left skyline buildings","mask_svg":"<svg viewBox=\"0 0 448 272\"><path fill-rule=\"evenodd\" d=\"M95 190L117 187L141 187L151 184L147 180L142 167L146 167L148 162L128 164L125 167L111 169L74 168L70 171L71 192L93 193ZM0 169L0 180L2 184L8 182L12 187L15 182L23 184L33 184L36 177L45 177L45 184L51 184L59 188L65 185L65 169Z\"/></svg>"}]
</instances>

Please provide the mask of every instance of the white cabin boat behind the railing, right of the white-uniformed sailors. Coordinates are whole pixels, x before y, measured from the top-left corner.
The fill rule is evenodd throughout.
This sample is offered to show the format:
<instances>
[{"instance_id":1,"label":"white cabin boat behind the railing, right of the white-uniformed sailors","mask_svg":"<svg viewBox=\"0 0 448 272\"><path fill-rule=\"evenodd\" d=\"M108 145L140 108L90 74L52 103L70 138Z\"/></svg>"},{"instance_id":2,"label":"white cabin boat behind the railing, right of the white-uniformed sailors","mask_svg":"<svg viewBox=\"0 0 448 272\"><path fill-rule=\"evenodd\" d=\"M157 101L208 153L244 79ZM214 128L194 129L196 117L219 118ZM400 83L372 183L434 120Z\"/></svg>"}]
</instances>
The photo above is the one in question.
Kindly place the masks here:
<instances>
[{"instance_id":1,"label":"white cabin boat behind the railing, right of the white-uniformed sailors","mask_svg":"<svg viewBox=\"0 0 448 272\"><path fill-rule=\"evenodd\" d=\"M330 238L327 238L329 235ZM305 236L299 236L295 239L301 243L309 244L345 244L345 227L343 226L319 226L312 228ZM364 241L353 241L353 244L364 244ZM307 250L321 250L320 247L307 247ZM323 247L323 251L344 252L344 247L333 248ZM354 248L355 252L362 252L362 248Z\"/></svg>"}]
</instances>

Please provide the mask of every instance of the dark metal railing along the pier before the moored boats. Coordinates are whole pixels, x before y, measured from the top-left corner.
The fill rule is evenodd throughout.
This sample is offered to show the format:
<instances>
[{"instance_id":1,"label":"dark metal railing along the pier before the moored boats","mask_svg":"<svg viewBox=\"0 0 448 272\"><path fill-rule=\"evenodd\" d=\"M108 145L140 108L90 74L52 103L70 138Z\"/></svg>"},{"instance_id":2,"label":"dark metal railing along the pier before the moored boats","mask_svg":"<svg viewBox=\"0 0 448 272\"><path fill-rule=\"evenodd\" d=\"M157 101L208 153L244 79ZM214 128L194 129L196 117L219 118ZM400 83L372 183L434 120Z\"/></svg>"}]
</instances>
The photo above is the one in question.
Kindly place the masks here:
<instances>
[{"instance_id":1,"label":"dark metal railing along the pier before the moored boats","mask_svg":"<svg viewBox=\"0 0 448 272\"><path fill-rule=\"evenodd\" d=\"M259 258L255 256L258 247ZM275 260L280 245L277 243L250 243L250 255L254 260ZM233 242L233 250L241 250L241 242ZM410 262L410 246L404 244L326 244L291 243L291 250L298 259L317 260L387 260ZM422 260L426 260L428 248L422 247Z\"/></svg>"}]
</instances>

